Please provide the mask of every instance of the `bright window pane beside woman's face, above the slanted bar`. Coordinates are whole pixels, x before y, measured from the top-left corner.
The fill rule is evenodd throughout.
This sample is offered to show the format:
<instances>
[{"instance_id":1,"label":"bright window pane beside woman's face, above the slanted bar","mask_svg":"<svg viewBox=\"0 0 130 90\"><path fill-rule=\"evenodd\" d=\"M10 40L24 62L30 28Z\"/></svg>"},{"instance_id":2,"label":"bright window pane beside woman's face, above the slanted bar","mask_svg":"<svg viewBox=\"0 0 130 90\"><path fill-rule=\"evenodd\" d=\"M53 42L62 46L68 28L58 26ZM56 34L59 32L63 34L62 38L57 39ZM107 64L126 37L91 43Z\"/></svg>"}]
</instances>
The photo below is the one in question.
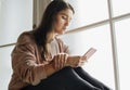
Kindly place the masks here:
<instances>
[{"instance_id":1,"label":"bright window pane beside woman's face, above the slanted bar","mask_svg":"<svg viewBox=\"0 0 130 90\"><path fill-rule=\"evenodd\" d=\"M75 9L70 28L108 18L107 0L68 0Z\"/></svg>"}]
</instances>

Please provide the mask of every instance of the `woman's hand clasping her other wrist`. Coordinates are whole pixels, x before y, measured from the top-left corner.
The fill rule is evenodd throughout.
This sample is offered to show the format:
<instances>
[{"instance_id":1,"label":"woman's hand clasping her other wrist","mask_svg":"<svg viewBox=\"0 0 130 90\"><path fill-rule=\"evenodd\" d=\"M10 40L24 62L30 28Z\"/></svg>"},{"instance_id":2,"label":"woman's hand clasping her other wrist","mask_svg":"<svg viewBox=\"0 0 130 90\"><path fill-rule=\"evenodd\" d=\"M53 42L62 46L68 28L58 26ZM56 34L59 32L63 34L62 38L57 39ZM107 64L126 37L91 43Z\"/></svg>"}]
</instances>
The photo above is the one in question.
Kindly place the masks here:
<instances>
[{"instance_id":1,"label":"woman's hand clasping her other wrist","mask_svg":"<svg viewBox=\"0 0 130 90\"><path fill-rule=\"evenodd\" d=\"M55 69L61 69L65 66L67 61L68 54L67 53L58 53L53 57L53 66Z\"/></svg>"}]
</instances>

